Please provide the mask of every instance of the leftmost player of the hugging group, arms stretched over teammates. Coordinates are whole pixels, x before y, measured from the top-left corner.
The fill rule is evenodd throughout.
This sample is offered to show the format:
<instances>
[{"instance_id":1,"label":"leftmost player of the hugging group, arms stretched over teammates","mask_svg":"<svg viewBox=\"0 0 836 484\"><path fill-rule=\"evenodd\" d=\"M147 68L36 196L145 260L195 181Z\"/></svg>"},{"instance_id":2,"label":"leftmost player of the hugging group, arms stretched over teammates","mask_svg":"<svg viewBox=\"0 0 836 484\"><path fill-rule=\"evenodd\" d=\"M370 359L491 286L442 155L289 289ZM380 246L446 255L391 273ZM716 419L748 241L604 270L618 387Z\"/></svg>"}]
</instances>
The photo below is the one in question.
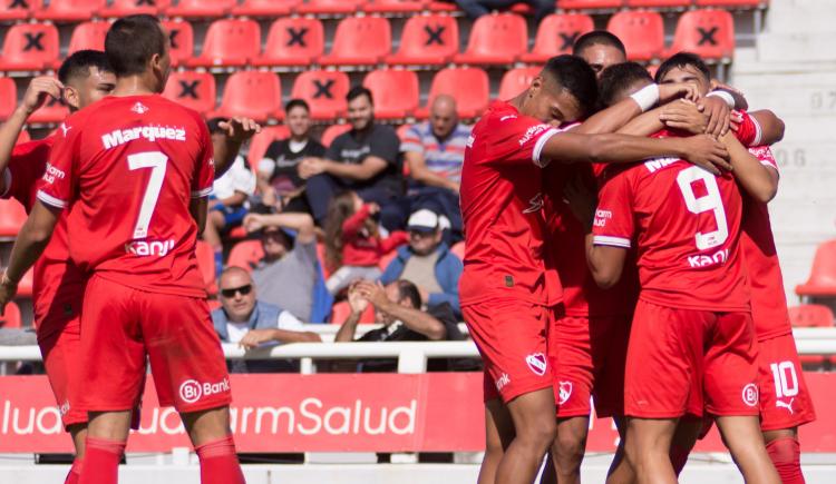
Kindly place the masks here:
<instances>
[{"instance_id":1,"label":"leftmost player of the hugging group, arms stretched over teammates","mask_svg":"<svg viewBox=\"0 0 836 484\"><path fill-rule=\"evenodd\" d=\"M657 86L593 116L584 125L618 129L660 97L682 89ZM650 96L648 96L650 95ZM465 320L485 362L490 445L479 482L528 483L555 433L553 375L546 334L560 281L543 263L541 168L550 161L628 161L669 154L716 170L725 150L708 137L686 140L561 132L585 115L595 80L581 59L551 59L526 92L496 102L475 126L463 167L461 211L467 236L460 297ZM505 450L503 453L502 450Z\"/></svg>"}]
</instances>

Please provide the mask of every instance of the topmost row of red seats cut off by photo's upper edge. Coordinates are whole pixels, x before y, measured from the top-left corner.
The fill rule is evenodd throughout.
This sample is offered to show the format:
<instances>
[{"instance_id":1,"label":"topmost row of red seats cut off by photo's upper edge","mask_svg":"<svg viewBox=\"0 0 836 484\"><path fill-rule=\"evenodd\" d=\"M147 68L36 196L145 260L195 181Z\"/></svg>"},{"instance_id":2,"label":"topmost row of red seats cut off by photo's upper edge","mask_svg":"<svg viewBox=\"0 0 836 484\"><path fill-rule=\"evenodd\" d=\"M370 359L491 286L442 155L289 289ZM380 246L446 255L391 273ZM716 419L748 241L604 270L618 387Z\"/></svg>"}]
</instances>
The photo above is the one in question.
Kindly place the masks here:
<instances>
[{"instance_id":1,"label":"topmost row of red seats cut off by photo's upper edge","mask_svg":"<svg viewBox=\"0 0 836 484\"><path fill-rule=\"evenodd\" d=\"M91 18L119 18L133 13L169 18L276 17L295 14L351 16L358 12L410 14L421 11L455 12L453 2L430 0L4 0L0 20L79 22ZM555 9L615 10L621 8L730 7L765 8L768 0L557 0ZM525 4L514 11L527 12Z\"/></svg>"}]
</instances>

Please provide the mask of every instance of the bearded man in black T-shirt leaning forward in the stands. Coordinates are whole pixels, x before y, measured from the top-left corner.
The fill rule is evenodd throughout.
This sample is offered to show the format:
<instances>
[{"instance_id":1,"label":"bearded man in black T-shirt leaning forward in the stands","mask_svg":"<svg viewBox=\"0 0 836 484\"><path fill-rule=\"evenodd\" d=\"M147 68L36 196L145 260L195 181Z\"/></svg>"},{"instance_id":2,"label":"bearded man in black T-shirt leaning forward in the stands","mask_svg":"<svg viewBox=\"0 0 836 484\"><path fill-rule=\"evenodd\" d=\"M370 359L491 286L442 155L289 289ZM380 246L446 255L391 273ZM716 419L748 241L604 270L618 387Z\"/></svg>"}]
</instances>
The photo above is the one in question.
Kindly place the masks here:
<instances>
[{"instance_id":1,"label":"bearded man in black T-shirt leaning forward in the stands","mask_svg":"<svg viewBox=\"0 0 836 484\"><path fill-rule=\"evenodd\" d=\"M406 217L397 203L404 191L400 140L390 127L375 122L371 91L357 86L346 98L351 130L331 142L324 158L299 164L299 175L308 179L305 197L313 218L324 226L331 198L351 189L380 206L387 229L402 227Z\"/></svg>"}]
</instances>

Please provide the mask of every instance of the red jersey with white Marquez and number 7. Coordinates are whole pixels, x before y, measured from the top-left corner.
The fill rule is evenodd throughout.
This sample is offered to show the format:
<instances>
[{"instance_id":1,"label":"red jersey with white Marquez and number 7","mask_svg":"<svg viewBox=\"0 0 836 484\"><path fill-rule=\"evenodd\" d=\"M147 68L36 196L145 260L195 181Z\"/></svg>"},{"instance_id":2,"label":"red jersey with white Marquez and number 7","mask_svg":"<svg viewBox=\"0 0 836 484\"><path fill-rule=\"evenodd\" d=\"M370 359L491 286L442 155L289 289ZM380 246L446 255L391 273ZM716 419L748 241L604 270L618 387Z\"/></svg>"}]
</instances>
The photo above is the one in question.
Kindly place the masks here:
<instances>
[{"instance_id":1,"label":"red jersey with white Marquez and number 7","mask_svg":"<svg viewBox=\"0 0 836 484\"><path fill-rule=\"evenodd\" d=\"M70 208L70 257L82 269L202 297L188 207L212 191L213 176L197 112L162 96L108 97L61 125L38 199Z\"/></svg>"}]
</instances>

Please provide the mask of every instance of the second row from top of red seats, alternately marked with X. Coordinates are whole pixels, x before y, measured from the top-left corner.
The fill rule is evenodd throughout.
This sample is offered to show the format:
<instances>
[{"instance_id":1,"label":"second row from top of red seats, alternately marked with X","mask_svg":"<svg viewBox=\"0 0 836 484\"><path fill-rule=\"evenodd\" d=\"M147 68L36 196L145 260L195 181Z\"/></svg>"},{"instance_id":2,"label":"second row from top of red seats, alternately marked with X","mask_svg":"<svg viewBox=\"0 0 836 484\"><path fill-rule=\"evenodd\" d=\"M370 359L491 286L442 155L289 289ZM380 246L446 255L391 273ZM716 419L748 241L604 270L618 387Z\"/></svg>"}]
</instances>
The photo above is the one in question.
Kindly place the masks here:
<instances>
[{"instance_id":1,"label":"second row from top of red seats, alternately marked with X","mask_svg":"<svg viewBox=\"0 0 836 484\"><path fill-rule=\"evenodd\" d=\"M173 62L191 68L538 63L568 52L577 37L594 29L592 18L585 14L548 16L541 22L529 51L525 18L514 13L485 16L474 22L467 47L459 52L455 18L419 16L406 22L400 46L392 53L392 33L387 19L348 17L337 26L332 48L324 53L324 29L317 19L276 19L270 27L263 50L259 22L223 19L212 22L201 55L194 57L192 24L166 21L165 26L172 32ZM104 49L108 27L107 21L78 24L70 38L68 55L80 49ZM681 50L693 51L707 59L729 60L735 50L735 22L726 10L682 13L669 49L664 46L664 24L658 12L618 12L610 18L607 30L619 36L630 58L639 61L659 59ZM56 68L59 62L59 36L54 24L19 23L6 34L0 70L39 71Z\"/></svg>"}]
</instances>

